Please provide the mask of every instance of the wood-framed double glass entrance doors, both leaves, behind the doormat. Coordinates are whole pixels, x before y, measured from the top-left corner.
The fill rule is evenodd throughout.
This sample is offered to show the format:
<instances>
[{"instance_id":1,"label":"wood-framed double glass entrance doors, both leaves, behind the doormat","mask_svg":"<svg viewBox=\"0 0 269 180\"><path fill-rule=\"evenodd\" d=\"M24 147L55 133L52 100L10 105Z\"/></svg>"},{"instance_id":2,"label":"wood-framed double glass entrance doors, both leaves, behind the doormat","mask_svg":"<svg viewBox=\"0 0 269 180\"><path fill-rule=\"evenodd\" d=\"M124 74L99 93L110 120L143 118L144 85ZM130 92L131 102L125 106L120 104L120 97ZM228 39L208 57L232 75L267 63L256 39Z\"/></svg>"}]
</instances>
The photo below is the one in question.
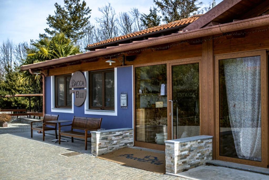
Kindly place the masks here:
<instances>
[{"instance_id":1,"label":"wood-framed double glass entrance doors, both leaves, behind the doormat","mask_svg":"<svg viewBox=\"0 0 269 180\"><path fill-rule=\"evenodd\" d=\"M200 135L200 60L134 67L134 145Z\"/></svg>"}]
</instances>

